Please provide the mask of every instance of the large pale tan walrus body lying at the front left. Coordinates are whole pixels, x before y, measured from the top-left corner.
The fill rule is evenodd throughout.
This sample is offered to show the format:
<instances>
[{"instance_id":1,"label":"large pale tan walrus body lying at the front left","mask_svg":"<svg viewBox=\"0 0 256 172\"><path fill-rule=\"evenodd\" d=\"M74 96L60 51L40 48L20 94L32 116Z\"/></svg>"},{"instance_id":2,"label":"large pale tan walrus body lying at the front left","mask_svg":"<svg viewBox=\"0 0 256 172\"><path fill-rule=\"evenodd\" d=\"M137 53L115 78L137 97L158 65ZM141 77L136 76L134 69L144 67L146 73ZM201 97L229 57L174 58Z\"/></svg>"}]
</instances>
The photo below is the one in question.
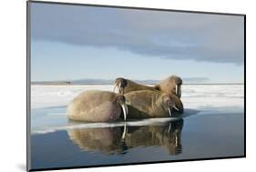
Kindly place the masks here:
<instances>
[{"instance_id":1,"label":"large pale tan walrus body lying at the front left","mask_svg":"<svg viewBox=\"0 0 256 172\"><path fill-rule=\"evenodd\" d=\"M116 121L122 114L120 99L125 97L108 91L83 92L67 106L67 117L81 122Z\"/></svg>"}]
</instances>

